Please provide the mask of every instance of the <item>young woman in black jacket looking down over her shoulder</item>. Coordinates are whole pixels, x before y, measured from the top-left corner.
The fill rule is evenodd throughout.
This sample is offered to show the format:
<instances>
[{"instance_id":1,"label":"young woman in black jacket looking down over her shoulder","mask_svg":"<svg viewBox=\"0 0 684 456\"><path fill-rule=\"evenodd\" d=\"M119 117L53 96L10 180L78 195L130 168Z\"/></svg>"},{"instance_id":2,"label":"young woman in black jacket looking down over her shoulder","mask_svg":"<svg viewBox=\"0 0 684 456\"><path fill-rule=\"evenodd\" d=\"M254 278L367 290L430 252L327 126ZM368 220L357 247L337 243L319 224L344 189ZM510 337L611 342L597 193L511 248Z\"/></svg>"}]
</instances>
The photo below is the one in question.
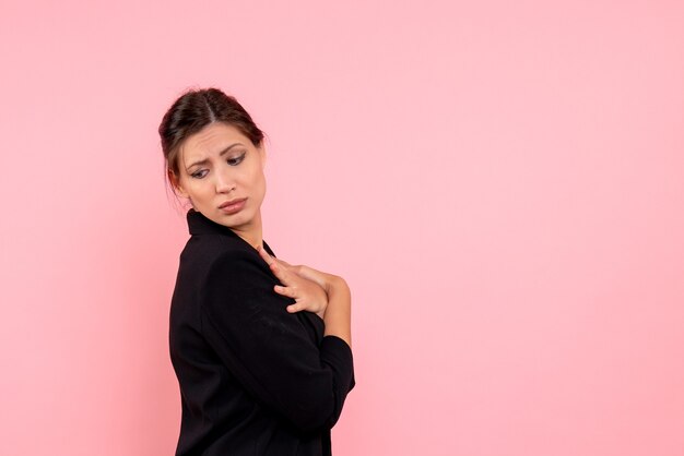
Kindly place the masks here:
<instances>
[{"instance_id":1,"label":"young woman in black jacket looking down over her shoulder","mask_svg":"<svg viewBox=\"0 0 684 456\"><path fill-rule=\"evenodd\" d=\"M170 305L176 455L330 455L354 387L347 285L262 239L263 133L235 98L188 92L160 135L170 185L192 205Z\"/></svg>"}]
</instances>

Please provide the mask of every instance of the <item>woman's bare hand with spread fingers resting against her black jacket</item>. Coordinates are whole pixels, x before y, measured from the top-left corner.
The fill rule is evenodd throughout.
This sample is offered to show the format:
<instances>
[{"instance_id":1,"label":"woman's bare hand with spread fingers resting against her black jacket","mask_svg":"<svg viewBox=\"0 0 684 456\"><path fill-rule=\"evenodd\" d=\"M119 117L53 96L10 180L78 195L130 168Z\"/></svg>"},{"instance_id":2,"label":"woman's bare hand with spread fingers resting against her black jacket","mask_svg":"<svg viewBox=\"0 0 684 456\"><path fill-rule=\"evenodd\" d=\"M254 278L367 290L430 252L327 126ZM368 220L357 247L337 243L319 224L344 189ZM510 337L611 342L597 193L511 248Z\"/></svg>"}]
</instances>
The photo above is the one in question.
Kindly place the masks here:
<instances>
[{"instance_id":1,"label":"woman's bare hand with spread fingers resting against her black jacket","mask_svg":"<svg viewBox=\"0 0 684 456\"><path fill-rule=\"evenodd\" d=\"M323 278L325 273L308 266L292 266L287 262L269 255L262 247L258 251L273 275L284 285L273 287L275 292L295 300L294 304L287 305L287 312L307 311L322 319L328 307L328 292L326 281L319 280Z\"/></svg>"}]
</instances>

